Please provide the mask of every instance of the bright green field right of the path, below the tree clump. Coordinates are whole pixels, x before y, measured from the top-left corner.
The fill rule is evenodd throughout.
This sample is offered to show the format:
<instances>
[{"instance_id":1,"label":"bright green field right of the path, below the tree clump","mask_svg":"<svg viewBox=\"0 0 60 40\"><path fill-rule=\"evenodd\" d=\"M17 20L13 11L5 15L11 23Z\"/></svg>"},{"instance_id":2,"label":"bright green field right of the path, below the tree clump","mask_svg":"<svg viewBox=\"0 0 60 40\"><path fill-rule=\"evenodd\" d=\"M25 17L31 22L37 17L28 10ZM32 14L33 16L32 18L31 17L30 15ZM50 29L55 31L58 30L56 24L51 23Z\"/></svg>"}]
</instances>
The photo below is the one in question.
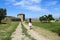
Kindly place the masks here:
<instances>
[{"instance_id":1,"label":"bright green field right of the path, below the tree clump","mask_svg":"<svg viewBox=\"0 0 60 40\"><path fill-rule=\"evenodd\" d=\"M60 22L53 22L53 23L33 22L33 25L56 32L60 35Z\"/></svg>"}]
</instances>

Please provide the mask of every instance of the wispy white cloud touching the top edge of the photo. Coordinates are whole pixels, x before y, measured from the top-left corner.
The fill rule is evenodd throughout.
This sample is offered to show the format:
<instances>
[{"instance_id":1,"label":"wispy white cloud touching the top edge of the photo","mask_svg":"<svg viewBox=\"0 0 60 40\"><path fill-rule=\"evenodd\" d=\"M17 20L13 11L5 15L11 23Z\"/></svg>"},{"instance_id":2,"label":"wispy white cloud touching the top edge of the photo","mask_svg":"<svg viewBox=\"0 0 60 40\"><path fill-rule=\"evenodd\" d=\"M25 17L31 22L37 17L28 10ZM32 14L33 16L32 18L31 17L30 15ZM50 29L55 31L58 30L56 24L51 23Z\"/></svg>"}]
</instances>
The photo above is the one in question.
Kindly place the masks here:
<instances>
[{"instance_id":1,"label":"wispy white cloud touching the top edge of the photo","mask_svg":"<svg viewBox=\"0 0 60 40\"><path fill-rule=\"evenodd\" d=\"M35 3L40 3L41 0L22 0L22 1L19 1L19 2L16 2L14 3L14 5L32 5L32 4L35 4Z\"/></svg>"}]
</instances>

